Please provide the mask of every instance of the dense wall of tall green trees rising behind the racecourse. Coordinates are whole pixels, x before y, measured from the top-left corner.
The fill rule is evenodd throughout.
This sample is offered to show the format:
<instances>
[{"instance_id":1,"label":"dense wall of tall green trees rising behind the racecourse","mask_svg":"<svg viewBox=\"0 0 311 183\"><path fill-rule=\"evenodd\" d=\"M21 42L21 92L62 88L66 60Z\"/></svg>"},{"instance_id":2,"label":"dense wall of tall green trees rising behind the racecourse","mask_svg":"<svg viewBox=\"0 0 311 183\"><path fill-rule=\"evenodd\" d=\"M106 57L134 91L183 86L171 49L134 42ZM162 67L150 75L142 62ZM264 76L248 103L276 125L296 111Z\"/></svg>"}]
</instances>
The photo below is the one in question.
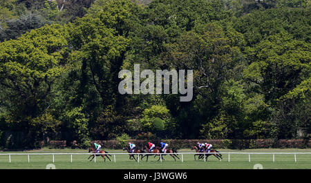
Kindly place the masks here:
<instances>
[{"instance_id":1,"label":"dense wall of tall green trees rising behind the racecourse","mask_svg":"<svg viewBox=\"0 0 311 183\"><path fill-rule=\"evenodd\" d=\"M310 1L0 3L0 146L309 139ZM121 95L122 69L194 70L194 97Z\"/></svg>"}]
</instances>

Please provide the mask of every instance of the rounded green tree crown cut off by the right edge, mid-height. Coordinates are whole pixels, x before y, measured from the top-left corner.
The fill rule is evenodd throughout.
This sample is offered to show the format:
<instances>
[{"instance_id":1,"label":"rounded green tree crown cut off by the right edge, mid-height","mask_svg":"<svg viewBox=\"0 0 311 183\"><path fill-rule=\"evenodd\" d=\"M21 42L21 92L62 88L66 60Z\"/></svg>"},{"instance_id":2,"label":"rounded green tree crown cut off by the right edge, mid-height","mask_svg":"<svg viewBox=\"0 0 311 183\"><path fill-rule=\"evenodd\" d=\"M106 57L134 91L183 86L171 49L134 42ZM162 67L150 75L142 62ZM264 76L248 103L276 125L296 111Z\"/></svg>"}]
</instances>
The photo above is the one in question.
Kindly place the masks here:
<instances>
[{"instance_id":1,"label":"rounded green tree crown cut off by the right edge, mid-height","mask_svg":"<svg viewBox=\"0 0 311 183\"><path fill-rule=\"evenodd\" d=\"M245 78L259 84L260 92L273 104L309 77L310 49L310 44L294 40L287 32L267 37L247 52L252 64L245 69Z\"/></svg>"}]
</instances>

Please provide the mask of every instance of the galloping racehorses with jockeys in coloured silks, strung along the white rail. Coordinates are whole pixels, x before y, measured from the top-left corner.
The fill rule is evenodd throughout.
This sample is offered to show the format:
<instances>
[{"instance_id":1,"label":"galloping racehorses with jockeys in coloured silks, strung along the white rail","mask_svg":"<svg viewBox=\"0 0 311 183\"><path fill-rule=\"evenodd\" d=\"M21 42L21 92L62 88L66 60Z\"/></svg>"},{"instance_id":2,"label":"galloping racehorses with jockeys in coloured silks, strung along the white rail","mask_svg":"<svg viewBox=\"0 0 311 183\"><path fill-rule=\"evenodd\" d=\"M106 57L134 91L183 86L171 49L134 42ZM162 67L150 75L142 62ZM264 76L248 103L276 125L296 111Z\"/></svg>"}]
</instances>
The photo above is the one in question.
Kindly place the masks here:
<instances>
[{"instance_id":1,"label":"galloping racehorses with jockeys in coloured silks, strung along the white rail","mask_svg":"<svg viewBox=\"0 0 311 183\"><path fill-rule=\"evenodd\" d=\"M198 148L198 146L193 146L191 148L191 150L196 150L196 154L194 154L194 160L196 160L196 156L198 156L198 160L205 158L205 160L207 160L207 157L209 157L210 155L214 155L218 160L221 161L221 159L223 159L222 155L220 154L219 151L216 151L214 149L211 149L209 151L209 154L200 154L201 151ZM148 157L149 156L154 156L157 157L159 156L159 159L164 160L164 155L171 155L171 157L173 157L173 159L176 161L176 157L178 158L178 160L180 160L180 157L178 157L177 151L173 150L172 148L167 149L167 151L164 153L161 151L161 148L159 146L156 146L155 148L153 148L153 151L149 151L149 148L147 146L144 146L144 150L141 149L134 149L133 152L131 152L131 150L129 149L129 147L125 146L123 148L123 151L127 151L129 153L129 160L135 160L136 162L138 161L138 158L140 158L140 160L142 160L142 158L146 157L146 162L148 162ZM206 149L203 149L203 152L205 152ZM88 153L92 152L93 154L90 155L88 157L88 160L92 157L92 159L90 161L92 161L94 159L95 156L102 156L102 158L104 159L104 162L106 162L106 157L108 158L108 160L111 161L111 159L109 158L109 156L111 156L107 151L101 150L99 153L95 153L95 148L90 147L88 148ZM142 153L140 155L140 153ZM137 157L135 157L135 155L137 155Z\"/></svg>"}]
</instances>

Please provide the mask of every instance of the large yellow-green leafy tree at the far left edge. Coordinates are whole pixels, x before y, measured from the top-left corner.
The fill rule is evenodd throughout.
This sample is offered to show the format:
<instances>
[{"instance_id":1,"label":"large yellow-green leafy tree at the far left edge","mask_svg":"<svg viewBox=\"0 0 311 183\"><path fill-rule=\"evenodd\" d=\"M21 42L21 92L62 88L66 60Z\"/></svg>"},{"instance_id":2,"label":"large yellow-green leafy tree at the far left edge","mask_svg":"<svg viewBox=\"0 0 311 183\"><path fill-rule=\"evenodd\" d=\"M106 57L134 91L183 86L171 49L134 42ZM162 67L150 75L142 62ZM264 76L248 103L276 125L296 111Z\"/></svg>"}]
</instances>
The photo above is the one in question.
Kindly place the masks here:
<instances>
[{"instance_id":1,"label":"large yellow-green leafy tree at the far left edge","mask_svg":"<svg viewBox=\"0 0 311 183\"><path fill-rule=\"evenodd\" d=\"M67 37L62 26L53 25L0 44L0 84L6 96L2 104L8 125L16 131L27 132L30 122L48 117L53 81L66 70Z\"/></svg>"}]
</instances>

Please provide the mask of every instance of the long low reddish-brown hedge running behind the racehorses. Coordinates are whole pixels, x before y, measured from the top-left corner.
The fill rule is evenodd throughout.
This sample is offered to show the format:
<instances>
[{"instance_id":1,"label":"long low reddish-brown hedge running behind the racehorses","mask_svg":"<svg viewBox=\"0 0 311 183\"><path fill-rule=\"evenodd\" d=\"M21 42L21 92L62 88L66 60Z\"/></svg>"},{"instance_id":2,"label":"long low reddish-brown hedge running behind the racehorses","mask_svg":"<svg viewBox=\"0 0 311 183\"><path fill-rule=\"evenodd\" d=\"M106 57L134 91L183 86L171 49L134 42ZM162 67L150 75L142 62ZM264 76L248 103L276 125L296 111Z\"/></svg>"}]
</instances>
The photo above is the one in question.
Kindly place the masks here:
<instances>
[{"instance_id":1,"label":"long low reddish-brown hedge running behind the racehorses","mask_svg":"<svg viewBox=\"0 0 311 183\"><path fill-rule=\"evenodd\" d=\"M123 146L118 140L95 140L90 145L102 144L102 148L109 149L122 149ZM129 142L136 145L137 148L144 148L148 142L152 142L159 146L160 142L169 144L169 148L180 149L190 148L197 142L209 143L213 148L232 148L232 149L245 149L245 148L311 148L310 139L130 139ZM75 142L67 143L64 141L50 141L48 144L41 144L41 146L50 146L50 148L74 148Z\"/></svg>"}]
</instances>

